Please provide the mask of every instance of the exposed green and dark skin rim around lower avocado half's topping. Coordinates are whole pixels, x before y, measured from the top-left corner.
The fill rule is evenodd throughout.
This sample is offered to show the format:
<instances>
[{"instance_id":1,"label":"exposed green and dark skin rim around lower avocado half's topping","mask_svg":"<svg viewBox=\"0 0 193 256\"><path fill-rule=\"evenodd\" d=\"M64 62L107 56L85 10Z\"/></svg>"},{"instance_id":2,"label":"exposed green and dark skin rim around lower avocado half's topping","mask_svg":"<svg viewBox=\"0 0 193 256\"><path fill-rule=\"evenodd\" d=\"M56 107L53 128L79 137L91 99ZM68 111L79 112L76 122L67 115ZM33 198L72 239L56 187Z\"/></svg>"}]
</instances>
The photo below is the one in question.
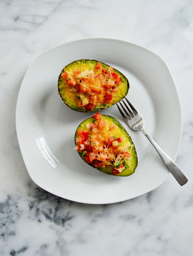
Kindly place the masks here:
<instances>
[{"instance_id":1,"label":"exposed green and dark skin rim around lower avocado half's topping","mask_svg":"<svg viewBox=\"0 0 193 256\"><path fill-rule=\"evenodd\" d=\"M137 159L137 153L136 153L136 149L135 149L135 146L133 144L133 141L131 139L131 137L129 136L129 134L127 133L127 131L125 130L125 128L119 123L118 120L116 120L115 118L111 117L111 116L108 116L108 115L101 115L105 120L109 119L113 122L113 124L117 125L119 128L121 128L122 132L127 136L128 138L128 141L130 142L130 144L132 145L133 149L132 149L132 163L133 163L133 168L132 169L125 169L123 170L122 172L120 172L119 174L117 175L114 175L113 174L113 171L112 171L112 168L99 168L99 167L95 167L94 164L92 163L87 163L86 160L85 160L85 157L84 155L82 154L82 152L78 152L79 156L84 160L84 162L86 162L88 165L92 166L93 168L101 171L101 172L104 172L106 174L110 174L110 175L113 175L113 176L121 176L121 177L126 177L126 176L130 176L131 174L133 174L135 172L135 169L137 168L137 165L138 165L138 159ZM76 143L76 139L78 138L78 130L79 129L84 129L84 127L86 126L87 123L91 123L93 122L94 120L96 120L94 117L90 117L90 118L87 118L85 119L83 122L81 122L81 124L78 126L78 128L76 129L76 132L75 132L75 145L77 146L77 143Z\"/></svg>"}]
</instances>

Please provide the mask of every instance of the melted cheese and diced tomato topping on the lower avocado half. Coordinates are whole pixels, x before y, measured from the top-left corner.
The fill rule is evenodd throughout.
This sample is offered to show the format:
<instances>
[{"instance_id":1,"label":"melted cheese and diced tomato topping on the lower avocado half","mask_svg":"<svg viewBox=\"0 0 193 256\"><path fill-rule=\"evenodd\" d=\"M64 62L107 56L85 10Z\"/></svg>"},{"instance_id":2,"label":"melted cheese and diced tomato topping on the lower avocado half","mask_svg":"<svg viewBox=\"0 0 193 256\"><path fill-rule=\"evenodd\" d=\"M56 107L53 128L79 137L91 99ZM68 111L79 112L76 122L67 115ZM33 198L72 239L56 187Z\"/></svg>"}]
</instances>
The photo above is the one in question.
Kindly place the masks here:
<instances>
[{"instance_id":1,"label":"melted cheese and diced tomato topping on the lower avocado half","mask_svg":"<svg viewBox=\"0 0 193 256\"><path fill-rule=\"evenodd\" d=\"M83 153L87 163L99 168L111 166L116 175L127 167L125 160L130 159L133 145L119 126L105 120L99 113L94 117L95 120L84 130L78 131L78 151Z\"/></svg>"}]
</instances>

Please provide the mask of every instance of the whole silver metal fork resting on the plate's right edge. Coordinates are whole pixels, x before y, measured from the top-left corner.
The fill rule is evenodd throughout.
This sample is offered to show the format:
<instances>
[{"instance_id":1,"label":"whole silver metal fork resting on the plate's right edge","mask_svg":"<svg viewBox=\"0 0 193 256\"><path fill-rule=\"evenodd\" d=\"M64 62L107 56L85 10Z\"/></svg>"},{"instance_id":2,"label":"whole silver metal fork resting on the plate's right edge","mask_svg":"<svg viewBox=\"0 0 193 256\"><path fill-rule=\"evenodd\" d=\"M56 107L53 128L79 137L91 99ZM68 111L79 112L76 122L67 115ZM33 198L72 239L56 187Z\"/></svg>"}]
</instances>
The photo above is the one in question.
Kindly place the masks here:
<instances>
[{"instance_id":1,"label":"whole silver metal fork resting on the plate's right edge","mask_svg":"<svg viewBox=\"0 0 193 256\"><path fill-rule=\"evenodd\" d=\"M174 176L174 178L178 181L178 183L183 186L187 183L188 179L184 176L184 174L180 171L178 166L174 163L174 161L158 146L158 144L147 134L147 132L144 129L144 121L143 118L140 116L140 114L137 112L137 110L133 107L133 105L125 98L128 105L125 103L124 100L122 100L123 104L119 102L121 108L118 104L117 107L123 116L125 122L127 125L132 128L133 130L141 131L152 143L153 147L156 149L158 154L160 155L162 161L164 162L165 166L168 168L168 170L171 172L171 174Z\"/></svg>"}]
</instances>

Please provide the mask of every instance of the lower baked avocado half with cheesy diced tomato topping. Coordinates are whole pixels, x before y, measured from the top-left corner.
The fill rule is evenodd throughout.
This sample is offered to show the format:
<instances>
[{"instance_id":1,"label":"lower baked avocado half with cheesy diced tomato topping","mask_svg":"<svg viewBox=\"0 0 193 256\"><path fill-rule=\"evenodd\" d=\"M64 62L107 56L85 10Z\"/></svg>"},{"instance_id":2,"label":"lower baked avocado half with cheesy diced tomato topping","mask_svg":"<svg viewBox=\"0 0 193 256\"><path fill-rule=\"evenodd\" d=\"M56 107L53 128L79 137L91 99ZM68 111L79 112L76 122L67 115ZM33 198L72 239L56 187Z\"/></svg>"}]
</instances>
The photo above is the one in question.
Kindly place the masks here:
<instances>
[{"instance_id":1,"label":"lower baked avocado half with cheesy diced tomato topping","mask_svg":"<svg viewBox=\"0 0 193 256\"><path fill-rule=\"evenodd\" d=\"M124 127L113 117L99 112L76 129L75 149L80 157L99 171L129 176L137 167L135 146Z\"/></svg>"}]
</instances>

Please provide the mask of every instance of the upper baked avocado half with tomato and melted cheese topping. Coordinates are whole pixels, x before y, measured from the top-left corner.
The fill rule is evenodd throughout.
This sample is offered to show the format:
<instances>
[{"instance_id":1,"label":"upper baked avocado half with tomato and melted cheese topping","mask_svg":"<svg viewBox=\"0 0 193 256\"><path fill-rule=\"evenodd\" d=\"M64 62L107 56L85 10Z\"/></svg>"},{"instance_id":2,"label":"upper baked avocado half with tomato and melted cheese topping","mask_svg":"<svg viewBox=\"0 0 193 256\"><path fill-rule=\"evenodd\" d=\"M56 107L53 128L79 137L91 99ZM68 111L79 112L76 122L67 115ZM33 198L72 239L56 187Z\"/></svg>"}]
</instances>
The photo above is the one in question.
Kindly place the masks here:
<instances>
[{"instance_id":1,"label":"upper baked avocado half with tomato and melted cheese topping","mask_svg":"<svg viewBox=\"0 0 193 256\"><path fill-rule=\"evenodd\" d=\"M129 82L118 70L93 59L80 59L64 67L58 79L63 102L79 112L98 111L122 100Z\"/></svg>"}]
</instances>

